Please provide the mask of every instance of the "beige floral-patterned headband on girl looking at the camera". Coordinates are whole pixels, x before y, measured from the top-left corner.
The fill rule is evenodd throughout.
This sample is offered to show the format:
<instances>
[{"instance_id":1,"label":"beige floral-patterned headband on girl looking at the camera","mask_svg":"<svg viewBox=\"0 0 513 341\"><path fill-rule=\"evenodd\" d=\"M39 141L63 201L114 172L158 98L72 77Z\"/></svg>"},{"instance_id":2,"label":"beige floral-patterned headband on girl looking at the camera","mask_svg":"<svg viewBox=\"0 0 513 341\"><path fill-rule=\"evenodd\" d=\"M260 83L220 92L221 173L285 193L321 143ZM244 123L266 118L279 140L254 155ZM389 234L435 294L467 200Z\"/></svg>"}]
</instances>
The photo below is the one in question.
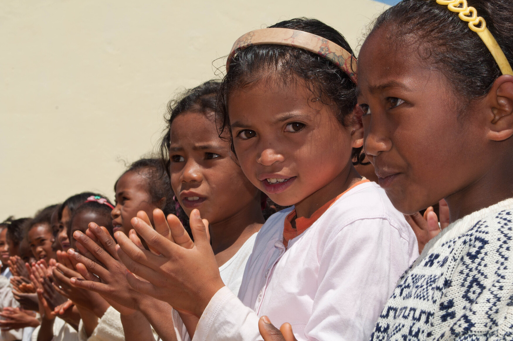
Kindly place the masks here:
<instances>
[{"instance_id":1,"label":"beige floral-patterned headband on girl looking at the camera","mask_svg":"<svg viewBox=\"0 0 513 341\"><path fill-rule=\"evenodd\" d=\"M290 28L263 28L244 34L233 44L226 70L237 51L264 44L292 46L317 53L340 67L357 84L357 61L351 53L322 36Z\"/></svg>"}]
</instances>

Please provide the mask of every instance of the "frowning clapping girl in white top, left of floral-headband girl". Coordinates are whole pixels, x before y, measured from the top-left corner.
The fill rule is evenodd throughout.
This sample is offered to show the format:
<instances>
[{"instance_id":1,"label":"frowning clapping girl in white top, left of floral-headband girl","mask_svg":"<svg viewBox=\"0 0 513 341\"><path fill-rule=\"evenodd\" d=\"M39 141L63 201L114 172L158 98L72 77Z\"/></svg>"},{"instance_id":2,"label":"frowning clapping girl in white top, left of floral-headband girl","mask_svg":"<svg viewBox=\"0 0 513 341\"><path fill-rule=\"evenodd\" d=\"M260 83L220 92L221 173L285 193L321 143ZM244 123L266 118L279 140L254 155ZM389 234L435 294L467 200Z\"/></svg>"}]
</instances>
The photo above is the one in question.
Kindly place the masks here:
<instances>
[{"instance_id":1,"label":"frowning clapping girl in white top, left of floral-headband girl","mask_svg":"<svg viewBox=\"0 0 513 341\"><path fill-rule=\"evenodd\" d=\"M215 255L216 266L224 283L236 295L239 292L246 261L253 249L257 232L264 223L262 200L266 197L262 196L262 192L249 182L240 166L230 157L228 139L218 134L214 118L215 96L219 86L219 81L206 82L185 92L181 99L169 103L168 127L162 141L162 151L167 160L166 169L169 171L171 186L175 193L177 216L187 226L187 216L191 211L195 208L202 210L203 216L210 222L211 248ZM168 153L169 156L167 156ZM124 199L120 197L118 200ZM143 214L143 212L139 212L137 217L147 219L146 213ZM174 222L180 224L174 215L170 215L168 220L171 224ZM160 226L159 222L165 224L166 218L161 210L153 211L153 221L157 229ZM94 234L101 243L107 244L110 240L107 234L101 232L101 229L94 227L89 233ZM125 234L122 235L125 236ZM182 339L189 337L187 322L191 321L191 325L195 326L197 317L181 311L186 321L184 325L176 311L166 314L165 311L159 310L159 316L154 316L152 311L155 309L152 307L158 303L154 302L154 298L125 288L128 284L124 279L124 269L120 267L119 257L113 249L113 243L110 248L107 245L105 247L107 251L111 251L111 255L106 253L98 255L95 254L98 250L94 247L93 241L86 235L79 233L74 237L77 238L77 244L81 245L79 248L84 247L97 259L105 257L102 263L107 263L109 270L104 273L100 268L95 269L94 264L73 253L75 259L82 261L89 270L108 284L108 286L102 286L101 283L93 281L75 280L75 285L97 291L117 301L118 305L115 307L122 311L127 338L134 335L143 339L144 336L135 332L141 332L141 330L146 330L147 335L150 335L148 321L141 318L143 317L141 313L148 317L163 339L169 339L169 337L160 331L170 325L171 319L177 334ZM136 241L138 239L135 234L131 237ZM188 235L187 238L189 238ZM122 280L111 280L114 277L113 273L121 274ZM84 275L87 276L87 272ZM136 297L127 295L130 292ZM160 302L159 305L162 303L164 302ZM132 312L119 305L141 312Z\"/></svg>"}]
</instances>

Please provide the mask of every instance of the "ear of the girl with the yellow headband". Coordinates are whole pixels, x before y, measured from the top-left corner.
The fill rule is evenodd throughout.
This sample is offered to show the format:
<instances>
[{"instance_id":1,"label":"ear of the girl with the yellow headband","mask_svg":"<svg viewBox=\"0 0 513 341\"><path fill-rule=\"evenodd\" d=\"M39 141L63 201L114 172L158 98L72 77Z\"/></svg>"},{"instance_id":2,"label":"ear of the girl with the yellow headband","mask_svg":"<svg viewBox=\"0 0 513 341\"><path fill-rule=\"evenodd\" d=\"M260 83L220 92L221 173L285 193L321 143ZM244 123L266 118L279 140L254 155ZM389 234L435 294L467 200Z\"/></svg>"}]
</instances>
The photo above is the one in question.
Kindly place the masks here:
<instances>
[{"instance_id":1,"label":"ear of the girl with the yellow headband","mask_svg":"<svg viewBox=\"0 0 513 341\"><path fill-rule=\"evenodd\" d=\"M513 135L513 75L504 74L495 80L487 98L490 111L486 137L504 141Z\"/></svg>"}]
</instances>

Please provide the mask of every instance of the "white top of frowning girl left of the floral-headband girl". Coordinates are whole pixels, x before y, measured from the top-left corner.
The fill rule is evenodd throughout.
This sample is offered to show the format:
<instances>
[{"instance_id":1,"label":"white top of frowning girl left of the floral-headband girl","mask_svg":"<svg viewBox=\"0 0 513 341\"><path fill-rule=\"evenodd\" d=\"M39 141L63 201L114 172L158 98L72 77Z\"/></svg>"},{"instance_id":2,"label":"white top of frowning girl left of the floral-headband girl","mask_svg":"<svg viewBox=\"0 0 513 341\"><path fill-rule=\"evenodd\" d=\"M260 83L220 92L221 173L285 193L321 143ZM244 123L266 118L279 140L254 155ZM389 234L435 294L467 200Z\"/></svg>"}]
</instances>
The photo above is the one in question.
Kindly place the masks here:
<instances>
[{"instance_id":1,"label":"white top of frowning girl left of the floral-headband girl","mask_svg":"<svg viewBox=\"0 0 513 341\"><path fill-rule=\"evenodd\" d=\"M231 257L219 268L219 273L221 274L223 283L225 283L226 287L228 287L235 295L239 294L239 288L241 287L244 269L246 268L246 262L251 255L251 251L253 250L253 245L255 243L255 239L257 239L257 235L258 233L254 233L251 237L249 237L248 240L244 242L239 251L237 251L233 257ZM190 341L191 338L189 337L189 333L187 333L187 329L185 328L180 315L174 309L173 324L177 338L179 340L182 339L182 341Z\"/></svg>"}]
</instances>

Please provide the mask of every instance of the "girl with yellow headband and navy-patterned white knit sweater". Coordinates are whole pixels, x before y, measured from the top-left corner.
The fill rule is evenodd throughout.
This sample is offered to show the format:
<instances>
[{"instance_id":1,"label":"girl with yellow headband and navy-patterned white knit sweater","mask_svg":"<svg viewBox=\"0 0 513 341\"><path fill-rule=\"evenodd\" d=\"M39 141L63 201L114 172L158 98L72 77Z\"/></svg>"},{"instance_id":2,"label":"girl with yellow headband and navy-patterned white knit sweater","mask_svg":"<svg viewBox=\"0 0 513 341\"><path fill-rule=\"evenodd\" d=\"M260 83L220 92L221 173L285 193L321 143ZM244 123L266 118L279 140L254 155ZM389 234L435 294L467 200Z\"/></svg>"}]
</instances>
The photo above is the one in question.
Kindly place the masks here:
<instances>
[{"instance_id":1,"label":"girl with yellow headband and navy-patterned white knit sweater","mask_svg":"<svg viewBox=\"0 0 513 341\"><path fill-rule=\"evenodd\" d=\"M358 103L380 184L406 214L445 198L451 221L372 340L513 339L512 14L510 0L405 0L362 47ZM283 339L266 321L264 339Z\"/></svg>"}]
</instances>

